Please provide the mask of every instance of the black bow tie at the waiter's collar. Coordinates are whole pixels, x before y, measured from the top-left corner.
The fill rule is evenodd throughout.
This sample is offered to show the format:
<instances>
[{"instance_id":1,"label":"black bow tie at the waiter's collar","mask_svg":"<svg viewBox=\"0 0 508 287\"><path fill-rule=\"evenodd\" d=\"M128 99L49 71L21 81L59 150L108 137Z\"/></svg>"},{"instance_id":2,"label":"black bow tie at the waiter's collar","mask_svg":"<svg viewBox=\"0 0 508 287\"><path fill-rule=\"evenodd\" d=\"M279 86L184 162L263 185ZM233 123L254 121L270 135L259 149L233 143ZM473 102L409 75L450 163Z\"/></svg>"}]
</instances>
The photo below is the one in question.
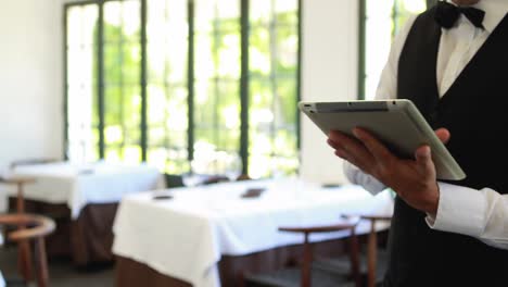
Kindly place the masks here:
<instances>
[{"instance_id":1,"label":"black bow tie at the waiter's collar","mask_svg":"<svg viewBox=\"0 0 508 287\"><path fill-rule=\"evenodd\" d=\"M472 7L456 7L445 1L440 1L435 11L435 21L443 28L449 29L455 25L460 14L463 14L475 27L483 27L485 12Z\"/></svg>"}]
</instances>

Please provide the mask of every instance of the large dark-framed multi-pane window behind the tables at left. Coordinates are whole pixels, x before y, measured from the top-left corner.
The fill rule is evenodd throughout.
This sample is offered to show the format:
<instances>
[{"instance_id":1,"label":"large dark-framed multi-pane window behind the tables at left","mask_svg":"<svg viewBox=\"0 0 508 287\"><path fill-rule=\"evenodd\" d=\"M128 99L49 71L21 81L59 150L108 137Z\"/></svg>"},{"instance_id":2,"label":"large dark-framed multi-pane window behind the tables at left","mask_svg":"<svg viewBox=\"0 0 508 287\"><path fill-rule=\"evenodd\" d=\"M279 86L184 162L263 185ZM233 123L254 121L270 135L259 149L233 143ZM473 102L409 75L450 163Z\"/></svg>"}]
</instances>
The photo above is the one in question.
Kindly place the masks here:
<instances>
[{"instance_id":1,"label":"large dark-framed multi-pane window behind the tables at left","mask_svg":"<svg viewBox=\"0 0 508 287\"><path fill-rule=\"evenodd\" d=\"M296 173L299 2L67 4L67 157Z\"/></svg>"}]
</instances>

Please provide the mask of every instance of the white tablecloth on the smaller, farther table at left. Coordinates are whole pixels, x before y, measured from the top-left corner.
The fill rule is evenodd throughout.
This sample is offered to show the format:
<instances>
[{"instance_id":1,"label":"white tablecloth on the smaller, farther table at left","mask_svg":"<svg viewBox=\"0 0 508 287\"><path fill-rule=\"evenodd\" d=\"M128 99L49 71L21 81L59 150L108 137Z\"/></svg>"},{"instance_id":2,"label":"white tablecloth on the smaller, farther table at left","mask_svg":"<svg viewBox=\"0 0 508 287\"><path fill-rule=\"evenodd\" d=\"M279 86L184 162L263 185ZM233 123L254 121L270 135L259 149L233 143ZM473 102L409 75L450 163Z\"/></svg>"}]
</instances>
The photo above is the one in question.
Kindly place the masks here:
<instances>
[{"instance_id":1,"label":"white tablecloth on the smaller, farther table at left","mask_svg":"<svg viewBox=\"0 0 508 287\"><path fill-rule=\"evenodd\" d=\"M22 165L10 175L35 177L35 184L25 185L25 198L66 203L73 219L77 219L88 203L118 202L127 194L164 188L164 178L160 172L144 164L60 162ZM16 190L11 188L8 192L14 196Z\"/></svg>"}]
</instances>

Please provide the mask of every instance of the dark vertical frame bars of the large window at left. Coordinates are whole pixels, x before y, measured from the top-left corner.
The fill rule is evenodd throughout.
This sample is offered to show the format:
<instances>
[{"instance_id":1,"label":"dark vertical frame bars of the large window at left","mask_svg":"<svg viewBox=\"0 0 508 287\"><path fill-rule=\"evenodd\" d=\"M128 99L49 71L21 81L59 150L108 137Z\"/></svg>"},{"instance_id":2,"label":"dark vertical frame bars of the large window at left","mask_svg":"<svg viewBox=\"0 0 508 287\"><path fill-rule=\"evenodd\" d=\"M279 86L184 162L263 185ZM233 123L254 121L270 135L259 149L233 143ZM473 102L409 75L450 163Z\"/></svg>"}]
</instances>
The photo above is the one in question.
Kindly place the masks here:
<instances>
[{"instance_id":1,"label":"dark vertical frame bars of the large window at left","mask_svg":"<svg viewBox=\"0 0 508 287\"><path fill-rule=\"evenodd\" d=\"M68 160L67 149L69 145L69 135L68 135L68 54L67 54L67 12L71 8L75 7L82 7L82 5L90 5L94 4L98 5L99 10L99 17L98 17L98 33L97 33L97 75L98 75L98 87L97 87L97 104L98 104L98 130L99 130L99 141L98 141L98 151L99 151L99 159L104 159L105 157L105 86L104 86L104 4L110 1L116 0L82 0L82 1L72 1L65 2L63 4L63 88L64 88L64 125L63 125L63 135L64 135L64 159ZM147 161L147 154L149 150L149 124L148 124L148 48L147 48L147 23L148 23L148 2L150 0L139 0L140 1L140 21L141 21L141 30L140 30L140 46L141 46L141 66L140 66L140 93L141 93L141 111L140 111L140 142L139 147L141 148L141 161ZM182 0L183 1L183 0ZM189 47L188 47L188 63L189 66L194 66L194 55L195 55L195 39L194 39L194 1L193 0L185 0L188 5L188 35L189 35ZM249 97L250 97L250 55L249 55L249 45L250 45L250 3L251 1L255 0L237 0L240 2L240 51L241 51L241 62L240 62L240 80L239 80L239 97L240 97L240 148L238 150L241 161L242 161L242 174L249 174L249 115L250 115L250 105L249 105ZM303 35L302 35L302 22L303 22L303 0L296 0L297 2L297 63L296 63L296 71L295 71L295 90L296 90L296 102L301 101L301 89L302 89L302 42L303 42ZM188 91L188 130L187 130L187 138L188 138L188 161L192 161L193 159L193 145L194 145L194 68L188 68L187 74L187 91ZM96 87L93 87L96 88ZM301 149L301 115L297 112L295 114L295 133L296 133L296 160L301 162L299 158L299 151ZM295 171L299 173L299 170Z\"/></svg>"}]
</instances>

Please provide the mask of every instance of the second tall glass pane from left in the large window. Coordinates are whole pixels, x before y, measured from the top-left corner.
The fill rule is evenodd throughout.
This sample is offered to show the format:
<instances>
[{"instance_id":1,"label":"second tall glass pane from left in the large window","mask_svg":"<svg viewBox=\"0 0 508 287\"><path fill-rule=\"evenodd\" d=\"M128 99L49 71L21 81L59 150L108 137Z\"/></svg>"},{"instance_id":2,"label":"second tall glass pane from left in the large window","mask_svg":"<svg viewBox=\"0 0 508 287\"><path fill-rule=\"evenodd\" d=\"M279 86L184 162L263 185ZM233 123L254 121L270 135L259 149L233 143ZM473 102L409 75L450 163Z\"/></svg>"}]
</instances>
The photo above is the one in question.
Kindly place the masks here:
<instances>
[{"instance_id":1,"label":"second tall glass pane from left in the large window","mask_svg":"<svg viewBox=\"0 0 508 287\"><path fill-rule=\"evenodd\" d=\"M105 159L141 160L141 2L104 3Z\"/></svg>"}]
</instances>

